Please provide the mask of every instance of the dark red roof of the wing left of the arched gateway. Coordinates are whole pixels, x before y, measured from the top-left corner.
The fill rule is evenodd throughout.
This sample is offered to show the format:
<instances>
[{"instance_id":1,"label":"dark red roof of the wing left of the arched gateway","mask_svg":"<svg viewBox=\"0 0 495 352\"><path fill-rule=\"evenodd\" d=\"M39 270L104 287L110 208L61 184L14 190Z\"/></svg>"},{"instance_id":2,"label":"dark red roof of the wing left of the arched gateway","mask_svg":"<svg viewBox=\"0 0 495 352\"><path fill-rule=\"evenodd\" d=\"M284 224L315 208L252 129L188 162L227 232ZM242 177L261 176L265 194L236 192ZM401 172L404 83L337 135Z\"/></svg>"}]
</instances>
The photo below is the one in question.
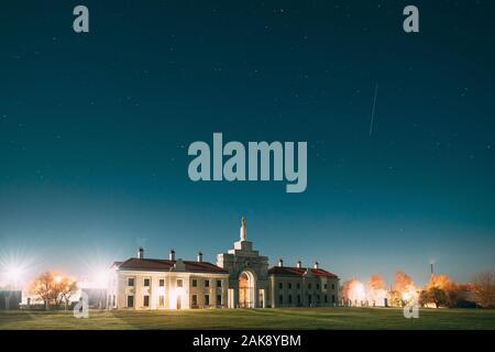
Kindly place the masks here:
<instances>
[{"instance_id":1,"label":"dark red roof of the wing left of the arched gateway","mask_svg":"<svg viewBox=\"0 0 495 352\"><path fill-rule=\"evenodd\" d=\"M131 257L124 262L116 262L114 265L120 270L151 271L151 272L168 272L176 261L168 260L140 260ZM191 273L228 273L226 270L208 262L184 261L186 272Z\"/></svg>"}]
</instances>

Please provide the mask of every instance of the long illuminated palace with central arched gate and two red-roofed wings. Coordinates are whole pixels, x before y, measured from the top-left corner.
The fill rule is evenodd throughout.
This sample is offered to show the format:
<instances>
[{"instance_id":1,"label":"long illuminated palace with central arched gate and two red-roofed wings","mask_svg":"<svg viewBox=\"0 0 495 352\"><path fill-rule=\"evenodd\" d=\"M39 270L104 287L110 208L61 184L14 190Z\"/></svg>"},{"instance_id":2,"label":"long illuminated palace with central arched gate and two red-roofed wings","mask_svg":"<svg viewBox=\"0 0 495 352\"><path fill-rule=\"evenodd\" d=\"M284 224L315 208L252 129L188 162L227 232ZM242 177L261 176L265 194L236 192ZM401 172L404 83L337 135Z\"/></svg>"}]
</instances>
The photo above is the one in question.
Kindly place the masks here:
<instances>
[{"instance_id":1,"label":"long illuminated palace with central arched gate and two red-roofed wings","mask_svg":"<svg viewBox=\"0 0 495 352\"><path fill-rule=\"evenodd\" d=\"M217 255L217 264L175 257L138 257L116 262L108 287L109 309L276 308L336 306L339 277L318 266L268 267L246 239L242 218L240 240L232 250Z\"/></svg>"}]
</instances>

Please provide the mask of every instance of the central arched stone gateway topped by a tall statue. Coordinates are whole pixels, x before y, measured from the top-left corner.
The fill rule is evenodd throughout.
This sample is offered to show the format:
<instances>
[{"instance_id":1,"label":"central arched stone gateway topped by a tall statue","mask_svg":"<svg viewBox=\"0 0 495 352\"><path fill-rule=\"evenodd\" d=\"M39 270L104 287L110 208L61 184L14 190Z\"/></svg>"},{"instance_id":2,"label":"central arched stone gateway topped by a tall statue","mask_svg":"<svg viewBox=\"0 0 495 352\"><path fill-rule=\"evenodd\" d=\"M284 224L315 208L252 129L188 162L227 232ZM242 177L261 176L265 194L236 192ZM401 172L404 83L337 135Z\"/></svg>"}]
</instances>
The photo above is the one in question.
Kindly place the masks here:
<instances>
[{"instance_id":1,"label":"central arched stone gateway topped by a tall statue","mask_svg":"<svg viewBox=\"0 0 495 352\"><path fill-rule=\"evenodd\" d=\"M229 308L266 307L268 257L253 250L246 240L245 219L242 217L240 241L233 250L217 256L217 265L229 272Z\"/></svg>"}]
</instances>

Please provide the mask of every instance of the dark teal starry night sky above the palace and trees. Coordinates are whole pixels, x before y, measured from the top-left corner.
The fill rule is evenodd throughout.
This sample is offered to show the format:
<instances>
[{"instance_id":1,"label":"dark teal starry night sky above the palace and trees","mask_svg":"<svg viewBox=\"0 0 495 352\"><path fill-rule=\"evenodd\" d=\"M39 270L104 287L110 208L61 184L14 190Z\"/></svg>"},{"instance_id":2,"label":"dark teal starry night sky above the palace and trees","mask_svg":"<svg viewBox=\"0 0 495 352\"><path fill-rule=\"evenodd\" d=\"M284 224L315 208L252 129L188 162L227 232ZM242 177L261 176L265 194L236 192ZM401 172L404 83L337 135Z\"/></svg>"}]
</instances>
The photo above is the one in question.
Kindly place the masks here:
<instances>
[{"instance_id":1,"label":"dark teal starry night sky above the palace and trees","mask_svg":"<svg viewBox=\"0 0 495 352\"><path fill-rule=\"evenodd\" d=\"M495 268L495 3L414 3L417 34L409 1L2 4L0 262L79 275L142 245L215 263L244 215L271 264ZM213 132L307 141L307 190L190 182L187 147Z\"/></svg>"}]
</instances>

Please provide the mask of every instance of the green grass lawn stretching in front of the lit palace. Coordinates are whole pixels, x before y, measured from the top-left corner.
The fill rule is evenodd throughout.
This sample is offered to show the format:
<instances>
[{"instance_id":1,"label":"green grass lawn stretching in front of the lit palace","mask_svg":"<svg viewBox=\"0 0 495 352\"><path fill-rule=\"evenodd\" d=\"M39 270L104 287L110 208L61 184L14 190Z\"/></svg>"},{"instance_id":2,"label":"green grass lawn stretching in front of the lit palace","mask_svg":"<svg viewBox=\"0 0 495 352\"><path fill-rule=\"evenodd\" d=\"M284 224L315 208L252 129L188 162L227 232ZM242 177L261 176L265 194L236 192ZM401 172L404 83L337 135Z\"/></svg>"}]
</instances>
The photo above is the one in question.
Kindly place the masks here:
<instances>
[{"instance_id":1,"label":"green grass lawn stretching in front of the lit palace","mask_svg":"<svg viewBox=\"0 0 495 352\"><path fill-rule=\"evenodd\" d=\"M393 308L202 309L183 311L2 311L8 329L495 329L495 310L421 309L406 319Z\"/></svg>"}]
</instances>

